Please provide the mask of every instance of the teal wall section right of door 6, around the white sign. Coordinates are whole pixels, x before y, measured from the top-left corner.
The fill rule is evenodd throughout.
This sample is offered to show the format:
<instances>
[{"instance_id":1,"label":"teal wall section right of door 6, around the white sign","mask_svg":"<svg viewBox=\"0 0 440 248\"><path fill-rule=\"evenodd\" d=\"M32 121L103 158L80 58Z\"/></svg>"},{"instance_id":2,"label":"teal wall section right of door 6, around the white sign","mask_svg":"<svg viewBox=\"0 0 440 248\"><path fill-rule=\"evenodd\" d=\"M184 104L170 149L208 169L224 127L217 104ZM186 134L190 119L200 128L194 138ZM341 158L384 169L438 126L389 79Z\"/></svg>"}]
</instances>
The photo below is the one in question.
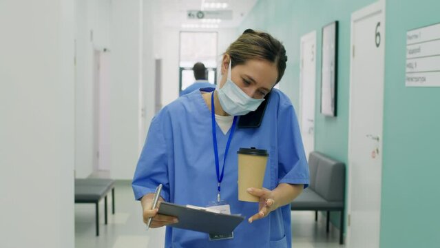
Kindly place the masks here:
<instances>
[{"instance_id":1,"label":"teal wall section right of door 6, around the white sign","mask_svg":"<svg viewBox=\"0 0 440 248\"><path fill-rule=\"evenodd\" d=\"M386 2L381 247L440 247L440 87L405 87L406 32L440 1Z\"/></svg>"}]
</instances>

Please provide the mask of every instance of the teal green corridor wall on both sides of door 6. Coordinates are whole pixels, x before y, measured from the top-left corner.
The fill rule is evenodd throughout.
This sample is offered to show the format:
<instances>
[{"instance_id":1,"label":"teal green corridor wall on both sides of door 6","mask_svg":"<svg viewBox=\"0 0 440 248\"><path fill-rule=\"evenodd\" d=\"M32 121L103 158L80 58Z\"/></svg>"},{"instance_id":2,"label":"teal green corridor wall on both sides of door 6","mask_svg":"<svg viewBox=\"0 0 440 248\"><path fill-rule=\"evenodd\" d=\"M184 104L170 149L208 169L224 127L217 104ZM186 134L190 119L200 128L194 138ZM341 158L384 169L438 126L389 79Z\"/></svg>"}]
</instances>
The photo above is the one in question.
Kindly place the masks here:
<instances>
[{"instance_id":1,"label":"teal green corridor wall on both sides of door 6","mask_svg":"<svg viewBox=\"0 0 440 248\"><path fill-rule=\"evenodd\" d=\"M315 149L347 162L351 13L373 0L260 0L240 25L284 42L289 61L280 87L297 112L300 37L317 31ZM440 1L386 1L384 163L381 247L439 247L440 87L405 87L406 31L440 22ZM337 117L319 114L324 25L339 21ZM333 214L336 225L338 217Z\"/></svg>"}]
</instances>

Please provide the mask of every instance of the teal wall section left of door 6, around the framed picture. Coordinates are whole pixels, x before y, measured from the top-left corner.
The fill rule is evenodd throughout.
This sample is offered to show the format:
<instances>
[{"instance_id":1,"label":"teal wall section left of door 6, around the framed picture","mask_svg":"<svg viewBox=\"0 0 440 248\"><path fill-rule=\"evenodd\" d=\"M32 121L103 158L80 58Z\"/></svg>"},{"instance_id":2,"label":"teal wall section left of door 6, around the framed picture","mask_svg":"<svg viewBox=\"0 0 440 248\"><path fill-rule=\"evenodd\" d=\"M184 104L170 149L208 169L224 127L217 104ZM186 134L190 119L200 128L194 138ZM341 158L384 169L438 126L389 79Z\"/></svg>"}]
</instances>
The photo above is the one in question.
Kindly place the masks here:
<instances>
[{"instance_id":1,"label":"teal wall section left of door 6, around the framed picture","mask_svg":"<svg viewBox=\"0 0 440 248\"><path fill-rule=\"evenodd\" d=\"M351 13L374 2L373 0L260 0L240 25L240 32L247 28L264 30L284 43L288 61L286 72L280 81L280 88L290 96L297 113L300 111L300 39L304 34L316 30L315 150L344 163L347 162L348 154ZM337 117L335 118L320 114L319 106L321 105L321 30L324 25L336 20L339 21L339 51ZM332 213L331 217L332 223L339 227L339 213Z\"/></svg>"}]
</instances>

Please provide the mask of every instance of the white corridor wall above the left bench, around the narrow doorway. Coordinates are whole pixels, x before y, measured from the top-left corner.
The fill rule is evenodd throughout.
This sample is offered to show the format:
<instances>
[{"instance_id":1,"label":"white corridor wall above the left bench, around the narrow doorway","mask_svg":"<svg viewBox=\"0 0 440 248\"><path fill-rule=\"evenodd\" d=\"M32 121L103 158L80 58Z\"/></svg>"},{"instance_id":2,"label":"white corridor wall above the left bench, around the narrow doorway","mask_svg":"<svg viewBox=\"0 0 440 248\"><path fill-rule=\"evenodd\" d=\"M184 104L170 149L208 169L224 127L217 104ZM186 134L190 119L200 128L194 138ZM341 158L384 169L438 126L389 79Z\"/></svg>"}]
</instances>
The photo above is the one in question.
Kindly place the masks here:
<instances>
[{"instance_id":1,"label":"white corridor wall above the left bench, around the narrow doorway","mask_svg":"<svg viewBox=\"0 0 440 248\"><path fill-rule=\"evenodd\" d=\"M154 116L152 37L155 37L154 30L158 30L153 17L157 6L158 3L148 0L76 0L75 168L78 178L87 177L94 170L93 56L94 50L103 48L110 50L106 53L110 57L110 174L118 179L131 179L134 174L140 148ZM107 161L101 156L101 160L104 159Z\"/></svg>"}]
</instances>

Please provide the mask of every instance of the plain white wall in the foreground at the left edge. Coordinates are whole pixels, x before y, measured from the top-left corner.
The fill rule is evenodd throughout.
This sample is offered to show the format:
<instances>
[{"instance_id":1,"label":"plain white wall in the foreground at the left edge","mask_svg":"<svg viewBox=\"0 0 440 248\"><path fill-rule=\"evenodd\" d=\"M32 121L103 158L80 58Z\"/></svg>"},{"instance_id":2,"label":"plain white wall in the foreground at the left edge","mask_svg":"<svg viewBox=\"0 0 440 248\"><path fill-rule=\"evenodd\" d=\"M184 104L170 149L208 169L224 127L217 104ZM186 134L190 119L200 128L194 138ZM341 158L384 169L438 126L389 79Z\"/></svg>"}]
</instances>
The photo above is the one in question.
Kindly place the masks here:
<instances>
[{"instance_id":1,"label":"plain white wall in the foreground at the left edge","mask_svg":"<svg viewBox=\"0 0 440 248\"><path fill-rule=\"evenodd\" d=\"M0 1L1 247L74 247L73 8Z\"/></svg>"}]
</instances>

